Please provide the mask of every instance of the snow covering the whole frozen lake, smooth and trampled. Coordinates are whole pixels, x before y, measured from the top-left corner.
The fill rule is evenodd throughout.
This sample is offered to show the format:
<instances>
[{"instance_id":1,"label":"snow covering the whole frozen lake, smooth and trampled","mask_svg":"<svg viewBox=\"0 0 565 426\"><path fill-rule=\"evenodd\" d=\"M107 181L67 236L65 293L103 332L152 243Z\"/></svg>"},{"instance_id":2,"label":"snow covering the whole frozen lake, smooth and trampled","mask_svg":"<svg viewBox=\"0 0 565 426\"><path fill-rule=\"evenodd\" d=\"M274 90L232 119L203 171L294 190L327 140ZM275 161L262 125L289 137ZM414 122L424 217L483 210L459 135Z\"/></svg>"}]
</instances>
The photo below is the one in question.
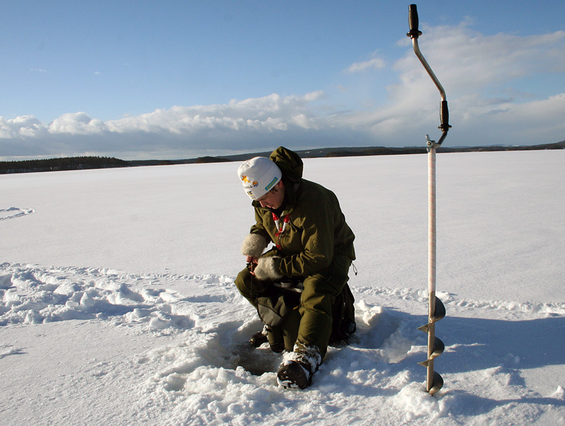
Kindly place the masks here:
<instances>
[{"instance_id":1,"label":"snow covering the whole frozen lake, smooth and trampled","mask_svg":"<svg viewBox=\"0 0 565 426\"><path fill-rule=\"evenodd\" d=\"M239 164L0 176L0 424L565 425L565 152L437 155L434 396L425 155L304 162L359 271L358 331L304 391L244 349Z\"/></svg>"}]
</instances>

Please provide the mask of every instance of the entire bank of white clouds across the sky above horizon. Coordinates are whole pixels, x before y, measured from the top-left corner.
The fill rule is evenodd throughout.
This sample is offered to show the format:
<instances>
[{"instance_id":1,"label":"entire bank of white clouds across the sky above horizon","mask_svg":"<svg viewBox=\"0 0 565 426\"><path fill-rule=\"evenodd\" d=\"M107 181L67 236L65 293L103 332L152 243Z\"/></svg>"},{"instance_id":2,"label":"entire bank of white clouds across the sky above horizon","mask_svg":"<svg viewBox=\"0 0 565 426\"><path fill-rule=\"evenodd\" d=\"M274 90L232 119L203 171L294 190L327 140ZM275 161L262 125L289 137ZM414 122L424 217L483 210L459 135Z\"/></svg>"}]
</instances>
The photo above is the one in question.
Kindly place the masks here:
<instances>
[{"instance_id":1,"label":"entire bank of white clouds across the sky above horizon","mask_svg":"<svg viewBox=\"0 0 565 426\"><path fill-rule=\"evenodd\" d=\"M446 89L451 146L535 144L565 139L563 88L542 88L545 76L564 81L565 32L520 37L482 35L465 23L423 28L420 48ZM340 90L232 100L224 105L174 106L102 121L85 112L49 124L29 115L0 117L0 159L54 155L190 158L234 152L321 146L424 145L439 133L439 93L417 61L410 40L390 65L376 52L347 67L347 83L396 83L372 109L343 107ZM371 74L372 73L372 74ZM540 86L539 90L535 88Z\"/></svg>"}]
</instances>

